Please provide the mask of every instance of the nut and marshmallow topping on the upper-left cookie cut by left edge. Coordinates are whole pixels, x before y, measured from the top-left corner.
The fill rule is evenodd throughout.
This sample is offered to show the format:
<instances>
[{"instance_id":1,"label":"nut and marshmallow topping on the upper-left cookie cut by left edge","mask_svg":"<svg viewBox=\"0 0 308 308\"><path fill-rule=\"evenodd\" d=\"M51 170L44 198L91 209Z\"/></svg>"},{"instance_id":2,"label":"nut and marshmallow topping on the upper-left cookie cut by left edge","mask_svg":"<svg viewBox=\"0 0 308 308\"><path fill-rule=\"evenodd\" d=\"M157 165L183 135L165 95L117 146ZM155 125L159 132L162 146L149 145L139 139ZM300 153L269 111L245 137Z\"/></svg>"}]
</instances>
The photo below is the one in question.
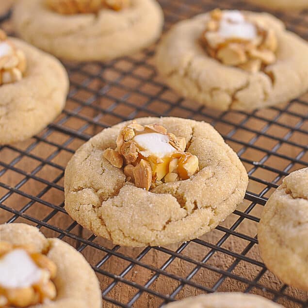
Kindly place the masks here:
<instances>
[{"instance_id":1,"label":"nut and marshmallow topping on the upper-left cookie cut by left edge","mask_svg":"<svg viewBox=\"0 0 308 308\"><path fill-rule=\"evenodd\" d=\"M20 81L26 66L24 52L16 49L5 32L0 30L0 84Z\"/></svg>"}]
</instances>

